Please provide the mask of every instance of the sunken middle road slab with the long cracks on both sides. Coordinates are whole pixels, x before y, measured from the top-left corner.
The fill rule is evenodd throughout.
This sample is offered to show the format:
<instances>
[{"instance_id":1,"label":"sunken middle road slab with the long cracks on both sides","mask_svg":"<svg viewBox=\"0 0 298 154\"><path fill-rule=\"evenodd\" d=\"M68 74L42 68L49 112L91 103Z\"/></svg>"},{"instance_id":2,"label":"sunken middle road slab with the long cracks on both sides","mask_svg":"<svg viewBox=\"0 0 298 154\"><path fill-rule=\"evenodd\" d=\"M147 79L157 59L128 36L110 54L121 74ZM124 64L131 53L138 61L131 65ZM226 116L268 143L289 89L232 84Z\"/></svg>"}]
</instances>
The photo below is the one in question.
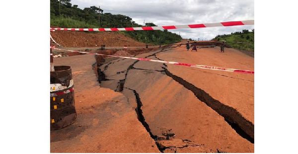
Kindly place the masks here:
<instances>
[{"instance_id":1,"label":"sunken middle road slab with the long cracks on both sides","mask_svg":"<svg viewBox=\"0 0 298 154\"><path fill-rule=\"evenodd\" d=\"M171 49L138 56L158 59L156 53L164 51ZM113 86L101 86L123 92L160 152L169 152L166 151L168 149L186 152L191 149L190 153L194 153L203 148L206 152L248 153L254 149L254 125L251 122L203 89L170 73L165 64L118 59L102 70L105 78L115 82ZM126 89L133 93L128 94ZM164 133L164 130L172 132ZM173 140L191 140L202 147L200 150L192 146L177 149L179 144ZM160 141L170 141L170 145L160 146Z\"/></svg>"}]
</instances>

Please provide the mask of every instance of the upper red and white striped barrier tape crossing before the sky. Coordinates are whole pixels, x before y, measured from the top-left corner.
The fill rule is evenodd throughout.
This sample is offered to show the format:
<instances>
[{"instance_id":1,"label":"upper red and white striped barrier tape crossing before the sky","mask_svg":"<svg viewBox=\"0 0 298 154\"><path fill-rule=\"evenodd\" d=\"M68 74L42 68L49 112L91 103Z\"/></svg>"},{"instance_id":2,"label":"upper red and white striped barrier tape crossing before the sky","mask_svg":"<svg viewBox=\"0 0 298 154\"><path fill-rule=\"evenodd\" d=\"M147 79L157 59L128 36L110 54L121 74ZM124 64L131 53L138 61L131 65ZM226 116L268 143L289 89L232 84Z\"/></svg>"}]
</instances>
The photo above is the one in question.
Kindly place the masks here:
<instances>
[{"instance_id":1,"label":"upper red and white striped barrier tape crossing before the sky","mask_svg":"<svg viewBox=\"0 0 298 154\"><path fill-rule=\"evenodd\" d=\"M51 28L51 30L75 30L75 31L129 31L129 30L163 30L163 29L181 29L181 28L205 28L222 26L254 25L254 20L228 21L218 23L200 23L189 25L172 26L149 26L149 27L128 27L128 28Z\"/></svg>"}]
</instances>

